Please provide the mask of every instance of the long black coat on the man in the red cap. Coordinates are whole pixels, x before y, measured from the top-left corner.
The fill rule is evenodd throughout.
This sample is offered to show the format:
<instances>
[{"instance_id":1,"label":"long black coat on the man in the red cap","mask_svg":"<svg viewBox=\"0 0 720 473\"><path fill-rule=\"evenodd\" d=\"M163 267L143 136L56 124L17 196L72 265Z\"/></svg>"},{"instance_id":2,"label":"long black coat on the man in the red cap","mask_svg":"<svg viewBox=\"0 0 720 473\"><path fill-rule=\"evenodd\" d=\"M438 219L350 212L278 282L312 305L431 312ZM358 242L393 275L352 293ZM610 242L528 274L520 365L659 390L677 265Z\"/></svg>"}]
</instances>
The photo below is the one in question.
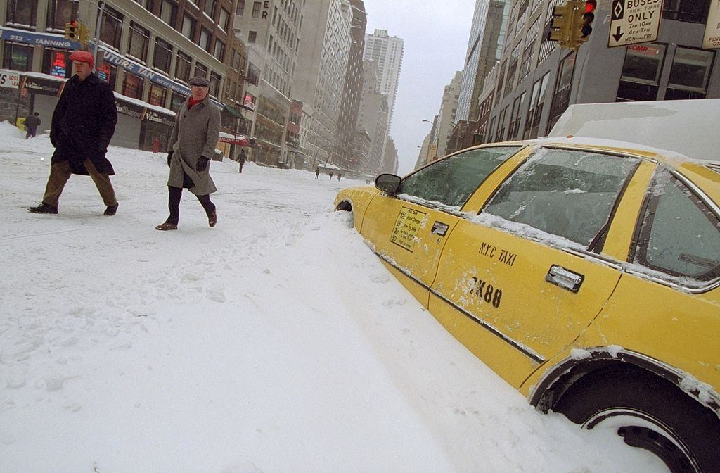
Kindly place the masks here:
<instances>
[{"instance_id":1,"label":"long black coat on the man in the red cap","mask_svg":"<svg viewBox=\"0 0 720 473\"><path fill-rule=\"evenodd\" d=\"M82 164L89 159L103 174L114 174L105 158L115 131L115 96L107 82L90 74L84 81L72 76L53 112L50 142L55 146L53 164L67 161L74 174L88 174Z\"/></svg>"}]
</instances>

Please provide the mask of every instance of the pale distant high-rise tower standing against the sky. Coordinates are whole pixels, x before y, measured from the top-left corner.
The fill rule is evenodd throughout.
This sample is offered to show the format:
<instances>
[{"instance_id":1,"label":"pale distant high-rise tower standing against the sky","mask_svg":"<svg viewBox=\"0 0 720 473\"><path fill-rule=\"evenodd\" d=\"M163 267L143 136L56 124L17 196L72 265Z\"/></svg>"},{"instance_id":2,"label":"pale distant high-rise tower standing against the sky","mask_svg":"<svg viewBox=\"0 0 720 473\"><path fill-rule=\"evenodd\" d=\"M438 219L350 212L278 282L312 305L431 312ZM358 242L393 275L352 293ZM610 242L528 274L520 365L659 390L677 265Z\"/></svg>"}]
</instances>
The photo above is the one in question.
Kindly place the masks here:
<instances>
[{"instance_id":1,"label":"pale distant high-rise tower standing against the sky","mask_svg":"<svg viewBox=\"0 0 720 473\"><path fill-rule=\"evenodd\" d=\"M388 36L386 30L375 30L372 35L365 35L363 59L377 63L377 91L387 97L388 129L392 123L392 110L395 108L404 44L401 37Z\"/></svg>"}]
</instances>

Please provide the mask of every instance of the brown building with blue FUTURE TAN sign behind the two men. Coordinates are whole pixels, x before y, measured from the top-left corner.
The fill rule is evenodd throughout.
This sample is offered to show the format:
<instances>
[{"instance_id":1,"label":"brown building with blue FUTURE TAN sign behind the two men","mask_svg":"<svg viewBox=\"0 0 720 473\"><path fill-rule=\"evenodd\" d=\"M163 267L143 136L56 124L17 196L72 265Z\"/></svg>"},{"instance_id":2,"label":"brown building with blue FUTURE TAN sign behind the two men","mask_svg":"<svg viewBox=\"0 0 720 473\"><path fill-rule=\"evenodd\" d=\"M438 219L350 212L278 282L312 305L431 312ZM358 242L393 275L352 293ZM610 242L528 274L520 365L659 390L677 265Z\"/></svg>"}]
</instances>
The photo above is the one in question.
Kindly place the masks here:
<instances>
[{"instance_id":1,"label":"brown building with blue FUTURE TAN sign behind the two men","mask_svg":"<svg viewBox=\"0 0 720 473\"><path fill-rule=\"evenodd\" d=\"M164 150L174 120L170 110L177 110L189 95L189 79L208 79L210 97L219 106L231 91L238 94L243 87L238 74L235 87L223 84L229 70L234 74L233 64L242 62L242 58L228 59L241 54L241 48L233 46L234 1L0 2L2 68L41 73L24 76L19 97L2 89L0 118L17 120L31 108L50 116L63 81L71 76L70 53L81 48L78 40L64 37L66 23L77 20L88 32L87 47L96 54L96 74L122 95L118 98L122 126L116 128L113 143ZM8 104L14 106L13 112ZM226 117L223 123L228 131L237 131L238 120Z\"/></svg>"}]
</instances>

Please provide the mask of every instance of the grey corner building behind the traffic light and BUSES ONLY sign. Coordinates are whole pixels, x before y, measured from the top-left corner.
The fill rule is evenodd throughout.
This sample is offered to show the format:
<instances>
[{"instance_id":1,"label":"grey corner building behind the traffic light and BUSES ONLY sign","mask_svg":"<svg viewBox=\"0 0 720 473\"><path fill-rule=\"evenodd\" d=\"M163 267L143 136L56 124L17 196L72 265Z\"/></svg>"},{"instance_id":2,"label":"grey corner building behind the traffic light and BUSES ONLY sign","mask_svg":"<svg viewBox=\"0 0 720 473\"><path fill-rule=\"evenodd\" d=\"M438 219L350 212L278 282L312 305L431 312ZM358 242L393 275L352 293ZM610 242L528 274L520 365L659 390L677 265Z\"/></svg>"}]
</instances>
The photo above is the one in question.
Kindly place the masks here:
<instances>
[{"instance_id":1,"label":"grey corner building behind the traffic light and BUSES ONLY sign","mask_svg":"<svg viewBox=\"0 0 720 473\"><path fill-rule=\"evenodd\" d=\"M546 136L572 104L720 97L720 58L702 47L710 0L665 1L657 40L616 48L608 48L603 21L615 3L599 3L593 32L577 50L546 40L561 3L513 1L500 66L479 102L492 95L492 107L466 135L483 143Z\"/></svg>"}]
</instances>

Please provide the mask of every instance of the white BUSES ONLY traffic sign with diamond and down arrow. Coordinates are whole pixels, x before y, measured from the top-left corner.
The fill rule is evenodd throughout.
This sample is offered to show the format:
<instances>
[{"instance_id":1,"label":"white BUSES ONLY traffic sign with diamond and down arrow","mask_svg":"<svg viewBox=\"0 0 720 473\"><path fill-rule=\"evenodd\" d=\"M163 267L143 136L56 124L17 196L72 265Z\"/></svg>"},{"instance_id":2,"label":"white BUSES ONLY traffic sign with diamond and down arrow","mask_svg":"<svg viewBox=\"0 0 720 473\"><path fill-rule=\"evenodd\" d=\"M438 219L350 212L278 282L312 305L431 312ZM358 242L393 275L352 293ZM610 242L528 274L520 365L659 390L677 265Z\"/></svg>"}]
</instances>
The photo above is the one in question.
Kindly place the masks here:
<instances>
[{"instance_id":1,"label":"white BUSES ONLY traffic sign with diamond and down arrow","mask_svg":"<svg viewBox=\"0 0 720 473\"><path fill-rule=\"evenodd\" d=\"M657 40L661 16L662 0L613 0L608 48Z\"/></svg>"}]
</instances>

